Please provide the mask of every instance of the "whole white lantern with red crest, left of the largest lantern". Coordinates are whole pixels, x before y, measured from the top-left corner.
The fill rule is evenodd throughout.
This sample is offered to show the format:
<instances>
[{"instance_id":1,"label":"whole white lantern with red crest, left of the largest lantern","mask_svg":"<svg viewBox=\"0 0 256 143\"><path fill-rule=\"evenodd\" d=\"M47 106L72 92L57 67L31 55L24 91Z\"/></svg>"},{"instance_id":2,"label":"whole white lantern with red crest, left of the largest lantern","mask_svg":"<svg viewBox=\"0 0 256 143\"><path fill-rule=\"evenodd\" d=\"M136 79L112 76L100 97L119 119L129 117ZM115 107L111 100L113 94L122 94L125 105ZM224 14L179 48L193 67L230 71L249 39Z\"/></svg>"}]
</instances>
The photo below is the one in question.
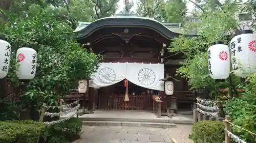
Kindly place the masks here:
<instances>
[{"instance_id":1,"label":"whole white lantern with red crest, left of the largest lantern","mask_svg":"<svg viewBox=\"0 0 256 143\"><path fill-rule=\"evenodd\" d=\"M214 42L207 50L208 70L213 79L226 79L230 73L229 48L223 42Z\"/></svg>"}]
</instances>

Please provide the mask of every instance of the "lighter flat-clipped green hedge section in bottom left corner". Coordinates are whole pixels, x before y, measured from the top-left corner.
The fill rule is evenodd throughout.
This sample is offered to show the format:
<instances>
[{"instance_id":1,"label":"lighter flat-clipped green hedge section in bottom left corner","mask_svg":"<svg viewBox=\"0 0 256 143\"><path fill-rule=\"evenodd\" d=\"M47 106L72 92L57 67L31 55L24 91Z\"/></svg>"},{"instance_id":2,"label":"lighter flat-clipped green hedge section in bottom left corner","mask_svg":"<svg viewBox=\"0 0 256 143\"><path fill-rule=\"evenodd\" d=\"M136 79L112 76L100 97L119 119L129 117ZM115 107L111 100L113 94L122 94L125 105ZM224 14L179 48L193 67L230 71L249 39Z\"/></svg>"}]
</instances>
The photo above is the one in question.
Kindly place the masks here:
<instances>
[{"instance_id":1,"label":"lighter flat-clipped green hedge section in bottom left corner","mask_svg":"<svg viewBox=\"0 0 256 143\"><path fill-rule=\"evenodd\" d=\"M36 143L44 130L44 123L30 120L0 122L0 142Z\"/></svg>"}]
</instances>

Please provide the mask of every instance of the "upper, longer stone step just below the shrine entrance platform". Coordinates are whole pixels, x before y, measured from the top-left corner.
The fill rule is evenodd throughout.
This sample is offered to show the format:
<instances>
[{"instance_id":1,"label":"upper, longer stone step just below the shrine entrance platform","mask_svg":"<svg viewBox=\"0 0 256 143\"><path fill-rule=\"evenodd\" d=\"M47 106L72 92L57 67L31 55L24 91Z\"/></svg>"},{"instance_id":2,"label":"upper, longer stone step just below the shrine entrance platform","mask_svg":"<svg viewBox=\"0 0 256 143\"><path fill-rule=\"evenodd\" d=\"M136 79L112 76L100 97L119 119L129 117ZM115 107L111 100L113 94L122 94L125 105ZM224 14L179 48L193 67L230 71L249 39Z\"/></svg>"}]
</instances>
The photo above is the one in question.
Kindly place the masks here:
<instances>
[{"instance_id":1,"label":"upper, longer stone step just below the shrine entrance platform","mask_svg":"<svg viewBox=\"0 0 256 143\"><path fill-rule=\"evenodd\" d=\"M174 119L136 119L136 118L92 118L79 117L83 121L113 121L113 122L150 122L150 123L174 123L174 124L193 124L191 120L174 120Z\"/></svg>"}]
</instances>

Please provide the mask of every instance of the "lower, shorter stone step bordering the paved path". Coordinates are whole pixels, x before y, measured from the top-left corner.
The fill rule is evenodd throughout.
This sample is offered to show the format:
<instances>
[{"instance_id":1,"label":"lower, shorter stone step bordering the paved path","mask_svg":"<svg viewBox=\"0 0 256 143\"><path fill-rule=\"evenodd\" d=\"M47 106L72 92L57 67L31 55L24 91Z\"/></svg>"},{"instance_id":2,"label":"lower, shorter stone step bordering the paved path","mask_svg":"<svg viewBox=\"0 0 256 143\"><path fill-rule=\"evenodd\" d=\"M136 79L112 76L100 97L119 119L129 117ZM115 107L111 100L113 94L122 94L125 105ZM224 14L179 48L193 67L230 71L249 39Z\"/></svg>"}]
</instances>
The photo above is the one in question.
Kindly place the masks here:
<instances>
[{"instance_id":1,"label":"lower, shorter stone step bordering the paved path","mask_svg":"<svg viewBox=\"0 0 256 143\"><path fill-rule=\"evenodd\" d=\"M154 123L154 122L122 122L122 121L82 121L83 125L88 126L126 126L126 127L153 127L153 128L175 128L173 123Z\"/></svg>"}]
</instances>

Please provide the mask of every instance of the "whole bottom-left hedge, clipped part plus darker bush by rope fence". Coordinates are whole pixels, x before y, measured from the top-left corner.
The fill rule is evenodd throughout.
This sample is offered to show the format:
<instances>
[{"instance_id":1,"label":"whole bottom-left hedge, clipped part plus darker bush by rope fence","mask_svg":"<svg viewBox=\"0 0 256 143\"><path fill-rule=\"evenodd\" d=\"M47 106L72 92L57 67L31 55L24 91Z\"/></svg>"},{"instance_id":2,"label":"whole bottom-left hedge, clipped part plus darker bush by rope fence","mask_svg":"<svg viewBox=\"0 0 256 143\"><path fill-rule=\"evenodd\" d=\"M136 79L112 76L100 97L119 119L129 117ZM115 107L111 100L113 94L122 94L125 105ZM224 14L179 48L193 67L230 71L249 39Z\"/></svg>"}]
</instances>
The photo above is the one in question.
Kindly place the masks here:
<instances>
[{"instance_id":1,"label":"whole bottom-left hedge, clipped part plus darker bush by rope fence","mask_svg":"<svg viewBox=\"0 0 256 143\"><path fill-rule=\"evenodd\" d=\"M70 120L46 127L42 122L0 122L0 142L5 143L68 143L77 139L82 129L82 120Z\"/></svg>"}]
</instances>

